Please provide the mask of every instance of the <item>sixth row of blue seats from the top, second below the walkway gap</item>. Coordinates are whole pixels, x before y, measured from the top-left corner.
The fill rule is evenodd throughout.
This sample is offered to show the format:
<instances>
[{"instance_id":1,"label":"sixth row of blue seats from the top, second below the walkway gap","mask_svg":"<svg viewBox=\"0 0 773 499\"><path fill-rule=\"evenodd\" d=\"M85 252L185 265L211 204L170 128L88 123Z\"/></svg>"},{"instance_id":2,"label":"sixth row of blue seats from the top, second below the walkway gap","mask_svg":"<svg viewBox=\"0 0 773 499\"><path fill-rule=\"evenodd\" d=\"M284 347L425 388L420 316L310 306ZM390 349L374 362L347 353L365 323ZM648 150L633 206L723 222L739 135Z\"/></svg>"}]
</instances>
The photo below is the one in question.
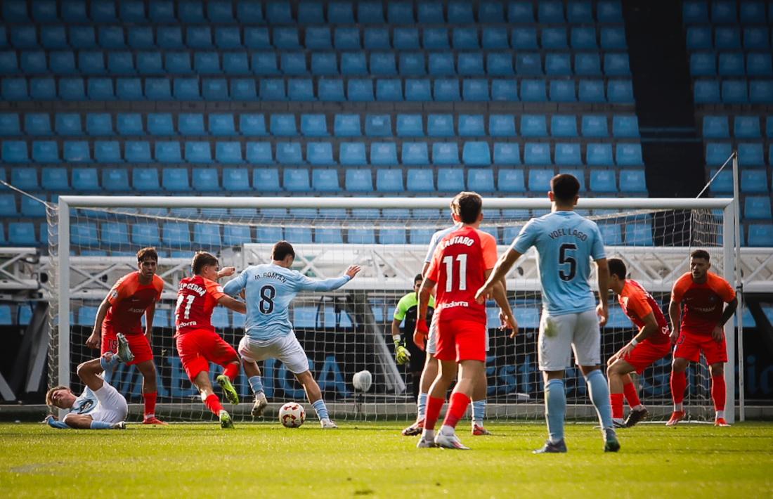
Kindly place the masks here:
<instances>
[{"instance_id":1,"label":"sixth row of blue seats from the top, second below the walkway gap","mask_svg":"<svg viewBox=\"0 0 773 499\"><path fill-rule=\"evenodd\" d=\"M31 146L31 147L30 147ZM761 147L761 145L760 145ZM30 156L29 150L32 149ZM521 164L520 145L516 142L466 141L458 142L403 142L398 154L395 142L340 142L338 155L334 156L332 142L215 142L208 141L156 141L127 140L119 142L85 140L63 141L61 148L56 140L23 140L2 142L2 160L8 163L56 164L67 163L193 163L237 164L245 160L254 165L308 164L316 166L397 166L403 165L459 165L486 166L491 164ZM214 156L213 156L214 149ZM303 155L305 149L305 156ZM461 149L461 157L459 150ZM92 158L91 151L94 151ZM123 154L121 153L123 150ZM153 154L151 154L153 150ZM369 150L369 153L366 152ZM430 156L431 151L431 156ZM583 154L584 151L584 154ZM640 166L642 147L636 142L614 144L603 142L526 142L523 144L523 162L526 165L591 165L591 166ZM400 158L398 160L398 158ZM14 169L15 174L19 169Z\"/></svg>"}]
</instances>

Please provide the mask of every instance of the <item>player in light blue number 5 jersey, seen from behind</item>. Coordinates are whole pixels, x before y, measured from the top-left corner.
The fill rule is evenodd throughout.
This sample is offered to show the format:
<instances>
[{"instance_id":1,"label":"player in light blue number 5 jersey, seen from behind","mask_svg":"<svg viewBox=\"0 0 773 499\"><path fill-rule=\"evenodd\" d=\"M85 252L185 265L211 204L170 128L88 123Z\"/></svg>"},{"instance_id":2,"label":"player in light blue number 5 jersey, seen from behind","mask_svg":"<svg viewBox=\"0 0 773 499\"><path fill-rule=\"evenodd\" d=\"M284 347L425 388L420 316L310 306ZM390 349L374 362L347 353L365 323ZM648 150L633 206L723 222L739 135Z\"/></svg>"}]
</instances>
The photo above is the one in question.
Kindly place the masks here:
<instances>
[{"instance_id":1,"label":"player in light blue number 5 jersey, seen from behind","mask_svg":"<svg viewBox=\"0 0 773 499\"><path fill-rule=\"evenodd\" d=\"M598 226L574 212L579 192L580 183L574 176L565 173L554 176L548 193L553 210L523 226L477 294L478 300L484 299L491 292L493 282L504 279L521 255L532 246L536 248L543 297L538 353L545 381L545 419L550 438L535 453L567 451L564 443L567 405L564 369L570 367L572 349L575 362L585 377L591 402L598 412L604 451L620 449L613 428L609 388L600 370L599 325L604 326L609 316L609 268ZM591 259L597 265L601 302L598 307L588 283Z\"/></svg>"}]
</instances>

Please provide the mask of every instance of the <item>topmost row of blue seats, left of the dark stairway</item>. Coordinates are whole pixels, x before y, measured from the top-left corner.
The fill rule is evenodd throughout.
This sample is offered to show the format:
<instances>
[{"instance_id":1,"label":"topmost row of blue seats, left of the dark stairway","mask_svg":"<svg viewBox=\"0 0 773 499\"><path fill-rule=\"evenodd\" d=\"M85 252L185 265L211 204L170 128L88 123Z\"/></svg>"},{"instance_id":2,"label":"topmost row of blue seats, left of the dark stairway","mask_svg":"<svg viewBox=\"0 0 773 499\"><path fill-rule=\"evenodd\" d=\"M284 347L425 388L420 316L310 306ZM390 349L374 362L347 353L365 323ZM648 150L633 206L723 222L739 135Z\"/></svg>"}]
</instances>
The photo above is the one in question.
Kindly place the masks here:
<instances>
[{"instance_id":1,"label":"topmost row of blue seats, left of the dark stairway","mask_svg":"<svg viewBox=\"0 0 773 499\"><path fill-rule=\"evenodd\" d=\"M474 22L623 22L618 0L598 2L498 2L483 0L474 9L468 0L451 0L444 8L443 2L299 2L294 15L291 2L260 2L259 0L209 0L208 2L172 0L5 0L2 2L2 19L5 22L177 22L192 24L232 23L257 24L413 24L421 22L438 24L472 24ZM88 5L88 7L87 7ZM595 5L595 9L594 9ZM176 7L176 9L175 9ZM415 15L414 15L415 10ZM764 11L763 11L764 12ZM355 14L356 13L356 14ZM31 14L31 15L30 15Z\"/></svg>"}]
</instances>

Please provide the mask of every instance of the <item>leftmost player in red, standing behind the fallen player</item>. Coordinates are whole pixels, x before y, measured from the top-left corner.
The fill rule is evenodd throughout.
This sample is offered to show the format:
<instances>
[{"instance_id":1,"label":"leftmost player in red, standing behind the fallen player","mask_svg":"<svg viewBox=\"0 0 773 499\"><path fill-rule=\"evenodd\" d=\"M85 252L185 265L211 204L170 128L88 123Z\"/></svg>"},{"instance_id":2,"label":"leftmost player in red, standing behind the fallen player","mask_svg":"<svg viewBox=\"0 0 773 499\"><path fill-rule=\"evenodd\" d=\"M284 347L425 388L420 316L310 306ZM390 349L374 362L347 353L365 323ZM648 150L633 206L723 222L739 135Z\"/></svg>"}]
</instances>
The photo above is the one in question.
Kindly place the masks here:
<instances>
[{"instance_id":1,"label":"leftmost player in red, standing behind the fallen player","mask_svg":"<svg viewBox=\"0 0 773 499\"><path fill-rule=\"evenodd\" d=\"M150 339L153 332L155 302L161 299L164 280L155 275L158 268L158 253L155 248L137 251L138 271L118 279L97 310L94 330L86 340L90 348L100 347L101 352L115 353L118 347L117 333L124 333L135 360L127 365L137 365L142 373L142 398L145 399L146 425L165 425L155 417L156 371L153 364L153 350ZM141 317L145 315L145 333L142 333ZM111 373L105 373L110 378Z\"/></svg>"}]
</instances>

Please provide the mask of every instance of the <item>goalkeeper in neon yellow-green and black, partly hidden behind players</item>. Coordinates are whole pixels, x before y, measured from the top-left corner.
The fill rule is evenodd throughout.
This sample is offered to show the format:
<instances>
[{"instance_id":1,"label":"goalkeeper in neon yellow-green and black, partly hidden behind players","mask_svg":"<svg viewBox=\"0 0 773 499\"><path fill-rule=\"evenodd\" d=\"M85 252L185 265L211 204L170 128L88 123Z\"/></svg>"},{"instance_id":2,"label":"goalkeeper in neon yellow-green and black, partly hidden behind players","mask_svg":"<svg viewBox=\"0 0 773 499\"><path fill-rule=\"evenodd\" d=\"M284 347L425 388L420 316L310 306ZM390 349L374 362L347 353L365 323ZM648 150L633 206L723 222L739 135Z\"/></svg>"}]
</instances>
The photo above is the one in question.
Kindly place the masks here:
<instances>
[{"instance_id":1,"label":"goalkeeper in neon yellow-green and black, partly hidden behind players","mask_svg":"<svg viewBox=\"0 0 773 499\"><path fill-rule=\"evenodd\" d=\"M419 288L421 288L421 274L414 277L414 291L400 298L394 309L392 320L392 339L394 340L394 358L398 365L409 364L410 378L413 381L414 398L418 400L421 391L421 371L424 369L424 350L420 350L411 340L416 329L416 316ZM430 296L429 309L427 309L427 327L432 320L434 310L434 296ZM400 334L400 323L403 323L403 334ZM406 340L407 338L407 340Z\"/></svg>"}]
</instances>

